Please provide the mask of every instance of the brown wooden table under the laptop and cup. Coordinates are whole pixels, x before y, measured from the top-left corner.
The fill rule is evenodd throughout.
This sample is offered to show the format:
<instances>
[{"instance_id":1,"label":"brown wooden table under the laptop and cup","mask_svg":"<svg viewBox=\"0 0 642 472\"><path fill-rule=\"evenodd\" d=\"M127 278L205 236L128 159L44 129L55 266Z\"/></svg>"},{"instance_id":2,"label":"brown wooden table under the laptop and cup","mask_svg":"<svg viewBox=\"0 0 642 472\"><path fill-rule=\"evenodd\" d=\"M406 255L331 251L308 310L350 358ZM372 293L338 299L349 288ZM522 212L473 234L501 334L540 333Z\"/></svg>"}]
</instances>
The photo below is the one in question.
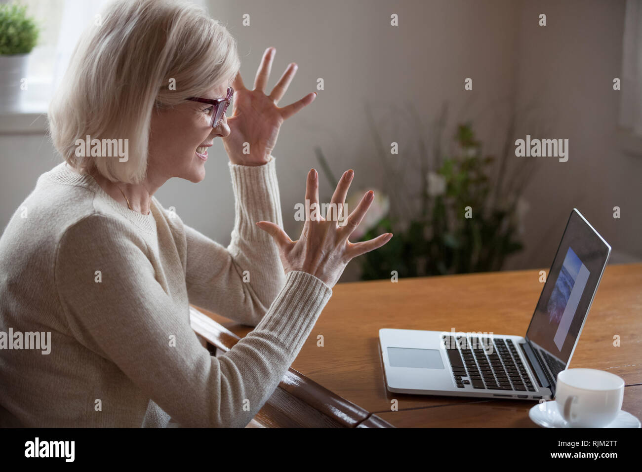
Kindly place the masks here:
<instances>
[{"instance_id":1,"label":"brown wooden table under the laptop and cup","mask_svg":"<svg viewBox=\"0 0 642 472\"><path fill-rule=\"evenodd\" d=\"M542 286L539 269L337 284L292 367L370 412L369 421L380 418L399 427L537 427L528 418L532 401L388 392L378 331L454 328L525 335ZM205 313L239 337L252 330ZM317 346L318 335L323 347ZM613 345L615 335L620 347ZM642 263L607 266L569 367L621 376L622 408L642 418Z\"/></svg>"}]
</instances>

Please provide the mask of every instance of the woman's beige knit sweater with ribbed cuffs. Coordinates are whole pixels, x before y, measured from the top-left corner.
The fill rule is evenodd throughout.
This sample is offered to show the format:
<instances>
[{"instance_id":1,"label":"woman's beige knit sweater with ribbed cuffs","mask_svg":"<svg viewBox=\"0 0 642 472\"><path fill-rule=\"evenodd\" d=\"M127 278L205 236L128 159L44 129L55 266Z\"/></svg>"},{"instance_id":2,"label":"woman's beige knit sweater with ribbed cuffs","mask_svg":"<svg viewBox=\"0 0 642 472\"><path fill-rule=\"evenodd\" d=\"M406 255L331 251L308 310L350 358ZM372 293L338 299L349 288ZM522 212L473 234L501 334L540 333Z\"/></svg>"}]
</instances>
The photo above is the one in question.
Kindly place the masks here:
<instances>
[{"instance_id":1,"label":"woman's beige knit sweater with ribbed cuffs","mask_svg":"<svg viewBox=\"0 0 642 472\"><path fill-rule=\"evenodd\" d=\"M39 177L0 238L0 426L250 422L332 290L306 272L284 275L254 224L282 227L274 159L229 168L227 248L156 198L148 216L127 209L65 163ZM211 356L189 303L256 328ZM35 332L50 333L48 354L25 349Z\"/></svg>"}]
</instances>

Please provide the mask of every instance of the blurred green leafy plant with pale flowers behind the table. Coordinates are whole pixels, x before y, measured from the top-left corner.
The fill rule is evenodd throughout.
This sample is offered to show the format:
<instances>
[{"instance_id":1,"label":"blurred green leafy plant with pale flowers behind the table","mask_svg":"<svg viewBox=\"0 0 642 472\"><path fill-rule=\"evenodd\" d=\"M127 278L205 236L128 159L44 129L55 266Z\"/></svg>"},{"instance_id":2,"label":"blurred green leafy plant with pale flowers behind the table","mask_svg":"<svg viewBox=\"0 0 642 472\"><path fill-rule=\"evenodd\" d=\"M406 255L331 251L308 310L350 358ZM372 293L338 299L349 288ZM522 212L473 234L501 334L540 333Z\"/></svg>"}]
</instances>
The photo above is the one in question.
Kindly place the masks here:
<instances>
[{"instance_id":1,"label":"blurred green leafy plant with pale flowers behind the table","mask_svg":"<svg viewBox=\"0 0 642 472\"><path fill-rule=\"evenodd\" d=\"M418 123L413 105L408 104L408 109ZM448 152L442 150L445 105L432 133L436 137L435 149L431 152L426 146L424 134L430 133L422 130L416 137L419 151L403 156L408 166L404 165L401 172L391 165L390 160L397 156L385 149L369 107L367 112L386 185L375 191L379 201L373 202L372 212L369 210L372 214L367 213L370 218L364 218L351 240L367 241L383 232L392 232L394 237L383 247L361 256L361 279L390 278L393 271L398 277L496 271L501 270L508 256L523 249L521 238L529 205L521 195L537 167L533 161L509 165L511 153L514 156L510 144L514 143L517 112L507 132L503 136L496 133L504 143L499 165L493 167L496 157L484 155L471 122L458 123L452 137L454 145ZM526 112L519 115L526 116ZM404 123L403 127L410 128L410 124ZM336 186L320 149L317 158L331 186ZM411 175L422 176L419 189L409 183ZM347 200L349 208L358 204L363 193L358 191ZM471 218L466 216L467 208Z\"/></svg>"}]
</instances>

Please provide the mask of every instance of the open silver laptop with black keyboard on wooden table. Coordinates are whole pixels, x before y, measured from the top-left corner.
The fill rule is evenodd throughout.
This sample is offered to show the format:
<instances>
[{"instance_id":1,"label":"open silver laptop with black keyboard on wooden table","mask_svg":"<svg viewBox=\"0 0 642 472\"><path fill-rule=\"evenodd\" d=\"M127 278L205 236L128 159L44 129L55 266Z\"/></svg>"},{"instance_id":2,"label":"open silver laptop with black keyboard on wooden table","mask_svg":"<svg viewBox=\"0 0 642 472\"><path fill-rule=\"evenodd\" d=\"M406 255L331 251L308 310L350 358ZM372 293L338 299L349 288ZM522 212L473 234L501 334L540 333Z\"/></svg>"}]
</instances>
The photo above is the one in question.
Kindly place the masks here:
<instances>
[{"instance_id":1,"label":"open silver laptop with black keyboard on wooden table","mask_svg":"<svg viewBox=\"0 0 642 472\"><path fill-rule=\"evenodd\" d=\"M379 329L391 392L551 400L602 279L611 246L573 209L524 337Z\"/></svg>"}]
</instances>

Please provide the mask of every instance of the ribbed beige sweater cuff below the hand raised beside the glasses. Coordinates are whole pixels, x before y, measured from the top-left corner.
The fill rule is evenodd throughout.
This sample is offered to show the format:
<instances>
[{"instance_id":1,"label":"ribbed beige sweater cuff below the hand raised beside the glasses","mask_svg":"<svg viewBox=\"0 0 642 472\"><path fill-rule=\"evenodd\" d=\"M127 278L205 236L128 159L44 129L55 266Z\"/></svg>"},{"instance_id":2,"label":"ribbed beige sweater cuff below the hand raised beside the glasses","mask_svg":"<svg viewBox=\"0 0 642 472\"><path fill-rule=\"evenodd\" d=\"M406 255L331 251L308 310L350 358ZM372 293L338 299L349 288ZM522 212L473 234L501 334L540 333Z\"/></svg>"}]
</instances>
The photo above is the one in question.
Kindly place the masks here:
<instances>
[{"instance_id":1,"label":"ribbed beige sweater cuff below the hand raised beside the glasses","mask_svg":"<svg viewBox=\"0 0 642 472\"><path fill-rule=\"evenodd\" d=\"M274 157L270 155L270 161L261 166L228 165L234 190L234 231L247 241L272 240L256 222L265 220L283 227Z\"/></svg>"}]
</instances>

